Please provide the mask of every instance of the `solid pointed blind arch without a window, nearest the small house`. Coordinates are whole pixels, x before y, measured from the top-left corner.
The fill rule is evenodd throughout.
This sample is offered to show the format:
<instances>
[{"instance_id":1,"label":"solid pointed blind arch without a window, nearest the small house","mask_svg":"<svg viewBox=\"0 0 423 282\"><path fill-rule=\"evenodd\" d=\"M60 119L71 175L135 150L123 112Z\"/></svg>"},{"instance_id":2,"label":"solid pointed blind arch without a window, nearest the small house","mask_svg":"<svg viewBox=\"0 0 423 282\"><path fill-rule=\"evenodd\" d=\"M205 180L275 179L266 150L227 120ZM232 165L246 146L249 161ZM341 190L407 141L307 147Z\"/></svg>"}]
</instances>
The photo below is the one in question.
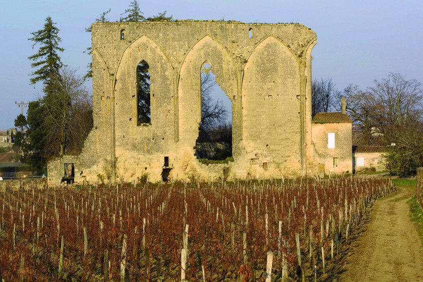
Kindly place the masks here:
<instances>
[{"instance_id":1,"label":"solid pointed blind arch without a window, nearest the small house","mask_svg":"<svg viewBox=\"0 0 423 282\"><path fill-rule=\"evenodd\" d=\"M257 78L260 81L253 81ZM254 48L242 81L243 140L247 154L258 147L259 154L272 156L274 162L300 160L300 82L300 63L281 41L269 36ZM264 140L262 136L269 138ZM298 144L298 150L288 152L293 143Z\"/></svg>"}]
</instances>

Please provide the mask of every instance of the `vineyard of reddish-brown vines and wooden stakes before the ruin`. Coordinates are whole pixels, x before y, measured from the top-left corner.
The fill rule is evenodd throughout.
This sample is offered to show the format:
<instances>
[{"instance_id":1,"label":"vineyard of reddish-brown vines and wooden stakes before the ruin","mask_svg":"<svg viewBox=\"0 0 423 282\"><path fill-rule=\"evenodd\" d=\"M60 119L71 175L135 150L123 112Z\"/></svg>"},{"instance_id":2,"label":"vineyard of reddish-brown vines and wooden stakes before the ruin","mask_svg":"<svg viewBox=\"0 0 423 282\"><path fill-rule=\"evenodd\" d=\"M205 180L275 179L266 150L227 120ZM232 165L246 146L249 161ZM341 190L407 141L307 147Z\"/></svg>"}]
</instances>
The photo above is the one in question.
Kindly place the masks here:
<instances>
[{"instance_id":1,"label":"vineyard of reddish-brown vines and wooden stakes before the ruin","mask_svg":"<svg viewBox=\"0 0 423 282\"><path fill-rule=\"evenodd\" d=\"M323 281L390 181L249 180L0 193L9 281Z\"/></svg>"}]
</instances>

